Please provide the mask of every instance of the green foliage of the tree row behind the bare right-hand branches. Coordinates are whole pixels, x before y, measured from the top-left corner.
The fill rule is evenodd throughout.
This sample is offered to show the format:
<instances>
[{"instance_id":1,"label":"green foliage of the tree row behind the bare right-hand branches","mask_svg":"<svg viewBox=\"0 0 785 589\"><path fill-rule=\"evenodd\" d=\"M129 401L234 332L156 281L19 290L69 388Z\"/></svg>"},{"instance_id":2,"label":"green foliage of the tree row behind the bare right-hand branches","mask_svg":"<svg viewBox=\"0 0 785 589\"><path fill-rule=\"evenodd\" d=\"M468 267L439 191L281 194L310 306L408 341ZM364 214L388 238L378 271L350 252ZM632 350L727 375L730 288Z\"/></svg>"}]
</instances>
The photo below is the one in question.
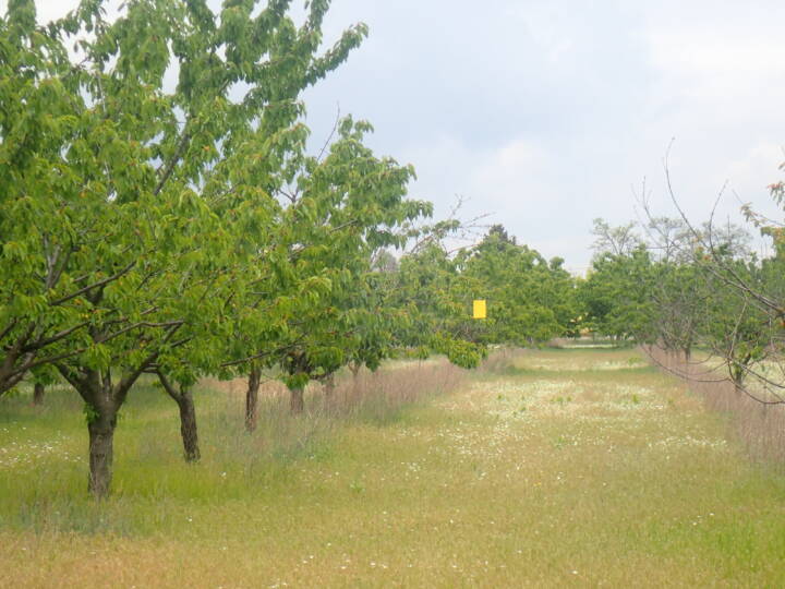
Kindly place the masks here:
<instances>
[{"instance_id":1,"label":"green foliage of the tree row behind the bare right-hand branches","mask_svg":"<svg viewBox=\"0 0 785 589\"><path fill-rule=\"evenodd\" d=\"M587 325L686 358L703 347L725 360L730 380L741 386L751 366L778 348L781 256L758 262L748 253L747 233L735 226L696 229L656 218L649 228L656 231L652 250L659 259L642 245L595 256L580 287Z\"/></svg>"}]
</instances>

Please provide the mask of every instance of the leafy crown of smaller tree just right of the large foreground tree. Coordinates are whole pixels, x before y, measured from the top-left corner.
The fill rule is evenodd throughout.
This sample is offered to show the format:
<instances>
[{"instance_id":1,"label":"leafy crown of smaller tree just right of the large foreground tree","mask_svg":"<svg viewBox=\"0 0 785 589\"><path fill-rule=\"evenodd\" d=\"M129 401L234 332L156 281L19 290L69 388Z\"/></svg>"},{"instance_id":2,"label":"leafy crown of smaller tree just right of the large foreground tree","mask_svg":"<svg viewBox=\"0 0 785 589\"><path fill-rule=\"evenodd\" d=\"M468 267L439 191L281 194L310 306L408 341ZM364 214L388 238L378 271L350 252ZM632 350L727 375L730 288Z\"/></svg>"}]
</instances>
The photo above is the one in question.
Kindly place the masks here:
<instances>
[{"instance_id":1,"label":"leafy crown of smaller tree just right of the large foreground tree","mask_svg":"<svg viewBox=\"0 0 785 589\"><path fill-rule=\"evenodd\" d=\"M277 348L288 385L331 374L348 362L371 369L389 354L391 316L384 304L374 252L400 247L403 227L430 203L407 200L410 166L377 157L364 145L370 125L343 119L324 158L302 156L281 190L274 243L280 256L267 268L266 292L256 304L280 313L278 336L249 337L254 347ZM270 348L270 349L271 349Z\"/></svg>"}]
</instances>

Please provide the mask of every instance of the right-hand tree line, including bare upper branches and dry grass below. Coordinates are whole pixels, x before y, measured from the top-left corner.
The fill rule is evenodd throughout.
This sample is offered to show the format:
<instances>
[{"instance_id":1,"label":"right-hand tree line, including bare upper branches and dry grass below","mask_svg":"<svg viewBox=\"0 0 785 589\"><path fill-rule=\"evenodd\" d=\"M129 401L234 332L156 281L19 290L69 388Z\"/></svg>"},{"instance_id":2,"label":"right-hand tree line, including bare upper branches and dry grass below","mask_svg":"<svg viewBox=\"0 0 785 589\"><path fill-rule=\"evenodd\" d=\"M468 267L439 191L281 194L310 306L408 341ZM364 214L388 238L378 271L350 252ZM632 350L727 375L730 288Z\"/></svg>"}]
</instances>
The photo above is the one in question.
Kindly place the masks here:
<instances>
[{"instance_id":1,"label":"right-hand tree line, including bare upper branches and dry grass below","mask_svg":"<svg viewBox=\"0 0 785 589\"><path fill-rule=\"evenodd\" d=\"M782 205L782 182L770 190ZM594 221L595 255L578 287L584 326L678 354L686 365L705 363L690 372L730 381L761 404L785 404L783 226L744 207L751 227L773 239L773 255L759 259L746 228L695 225L680 209L656 217L643 205L643 223ZM697 349L711 359L696 360Z\"/></svg>"}]
</instances>

